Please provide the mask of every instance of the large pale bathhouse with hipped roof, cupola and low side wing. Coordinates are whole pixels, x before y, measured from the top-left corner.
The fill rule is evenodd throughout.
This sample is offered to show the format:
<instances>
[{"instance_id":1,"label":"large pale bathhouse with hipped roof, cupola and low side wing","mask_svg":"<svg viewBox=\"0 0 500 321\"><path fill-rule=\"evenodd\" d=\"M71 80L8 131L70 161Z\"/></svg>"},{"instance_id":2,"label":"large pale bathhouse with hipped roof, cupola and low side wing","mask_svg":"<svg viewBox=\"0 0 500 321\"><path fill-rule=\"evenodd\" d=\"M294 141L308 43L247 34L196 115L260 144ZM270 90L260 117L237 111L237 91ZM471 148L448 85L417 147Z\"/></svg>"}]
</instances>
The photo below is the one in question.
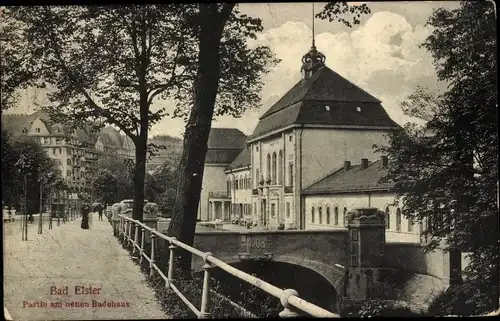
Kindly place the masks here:
<instances>
[{"instance_id":1,"label":"large pale bathhouse with hipped roof, cupola and low side wing","mask_svg":"<svg viewBox=\"0 0 500 321\"><path fill-rule=\"evenodd\" d=\"M260 117L226 168L231 214L270 229L324 229L344 228L354 208L377 207L388 213L389 234L418 241L391 186L379 182L388 160L373 148L399 125L380 100L324 62L313 45L302 79Z\"/></svg>"}]
</instances>

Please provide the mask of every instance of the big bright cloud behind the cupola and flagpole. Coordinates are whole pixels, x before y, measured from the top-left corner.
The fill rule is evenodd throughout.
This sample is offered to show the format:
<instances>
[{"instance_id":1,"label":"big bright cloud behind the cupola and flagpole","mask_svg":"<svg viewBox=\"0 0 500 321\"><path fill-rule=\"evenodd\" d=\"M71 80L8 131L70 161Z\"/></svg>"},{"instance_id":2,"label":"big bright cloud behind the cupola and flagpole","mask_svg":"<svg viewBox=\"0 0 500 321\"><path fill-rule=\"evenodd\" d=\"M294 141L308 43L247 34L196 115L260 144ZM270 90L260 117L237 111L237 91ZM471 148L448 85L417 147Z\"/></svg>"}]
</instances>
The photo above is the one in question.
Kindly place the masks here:
<instances>
[{"instance_id":1,"label":"big bright cloud behind the cupola and flagpole","mask_svg":"<svg viewBox=\"0 0 500 321\"><path fill-rule=\"evenodd\" d=\"M412 26L405 17L388 11L373 14L351 32L323 32L316 47L326 56L326 65L382 101L398 123L411 120L400 108L401 101L417 85L437 84L432 57L419 45L431 33L422 25ZM301 57L311 46L311 30L303 22L288 21L261 34L256 43L270 46L282 62L264 76L262 114L269 97L281 97L300 79Z\"/></svg>"}]
</instances>

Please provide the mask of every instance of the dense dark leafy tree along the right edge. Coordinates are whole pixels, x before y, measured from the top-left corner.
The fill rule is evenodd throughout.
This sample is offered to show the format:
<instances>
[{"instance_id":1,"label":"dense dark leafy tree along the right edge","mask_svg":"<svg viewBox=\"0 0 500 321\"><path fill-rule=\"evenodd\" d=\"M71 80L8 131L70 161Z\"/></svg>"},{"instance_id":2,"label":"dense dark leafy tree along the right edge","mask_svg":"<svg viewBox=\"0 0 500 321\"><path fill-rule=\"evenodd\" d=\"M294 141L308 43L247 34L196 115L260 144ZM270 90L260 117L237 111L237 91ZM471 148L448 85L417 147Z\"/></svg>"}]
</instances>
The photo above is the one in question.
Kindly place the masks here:
<instances>
[{"instance_id":1,"label":"dense dark leafy tree along the right edge","mask_svg":"<svg viewBox=\"0 0 500 321\"><path fill-rule=\"evenodd\" d=\"M427 250L444 240L452 250L472 252L460 291L474 302L468 313L478 314L494 309L499 297L494 5L465 1L436 10L428 24L435 30L423 47L448 88L439 96L419 88L405 106L424 114L427 125L405 126L380 150L392 160L386 179L403 212L428 222Z\"/></svg>"}]
</instances>

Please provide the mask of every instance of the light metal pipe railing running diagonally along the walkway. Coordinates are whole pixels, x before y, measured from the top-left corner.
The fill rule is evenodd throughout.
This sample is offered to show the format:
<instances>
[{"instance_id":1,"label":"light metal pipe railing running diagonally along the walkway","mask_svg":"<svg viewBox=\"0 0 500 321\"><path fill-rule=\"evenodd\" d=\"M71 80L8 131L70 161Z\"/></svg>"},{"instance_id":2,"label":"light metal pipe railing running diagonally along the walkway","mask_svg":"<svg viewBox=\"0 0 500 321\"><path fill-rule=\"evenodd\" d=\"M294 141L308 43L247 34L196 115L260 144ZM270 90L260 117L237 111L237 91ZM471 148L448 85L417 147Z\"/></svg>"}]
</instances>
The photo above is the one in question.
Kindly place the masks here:
<instances>
[{"instance_id":1,"label":"light metal pipe railing running diagonally along the walkway","mask_svg":"<svg viewBox=\"0 0 500 321\"><path fill-rule=\"evenodd\" d=\"M156 270L158 274L164 279L165 286L167 288L172 289L177 296L189 307L189 309L196 314L199 319L210 318L210 313L208 312L208 302L209 302L209 294L211 293L210 289L210 269L214 267L218 267L221 270L229 273L238 279L251 284L268 294L278 298L283 305L284 310L279 313L279 316L282 318L287 317L296 317L298 316L297 310L306 312L314 317L320 318L339 318L338 314L327 311L317 305L314 305L308 301L301 299L298 296L297 291L293 289L282 290L270 283L267 283L259 278L256 278L248 273L245 273L241 270L238 270L229 264L219 260L216 258L211 252L202 252L194 247L186 245L175 237L170 237L164 235L154 228L150 228L146 226L144 223L141 223L137 220L134 220L130 217L126 217L123 215L118 215L120 218L119 221L119 236L123 236L125 241L128 244L133 246L133 253L139 251L140 255L140 263L142 263L143 259L146 259L149 262L150 274ZM141 240L139 241L139 228L141 229ZM145 243L145 232L150 233L151 237L151 254L147 255L144 251L144 243ZM168 272L167 275L161 271L161 269L155 264L155 239L156 238L163 239L169 242L169 250L170 257L168 263ZM182 248L192 255L196 255L203 259L205 264L203 265L204 269L204 277L203 277L203 290L201 297L201 307L197 309L185 296L182 292L174 285L174 250L176 248Z\"/></svg>"}]
</instances>

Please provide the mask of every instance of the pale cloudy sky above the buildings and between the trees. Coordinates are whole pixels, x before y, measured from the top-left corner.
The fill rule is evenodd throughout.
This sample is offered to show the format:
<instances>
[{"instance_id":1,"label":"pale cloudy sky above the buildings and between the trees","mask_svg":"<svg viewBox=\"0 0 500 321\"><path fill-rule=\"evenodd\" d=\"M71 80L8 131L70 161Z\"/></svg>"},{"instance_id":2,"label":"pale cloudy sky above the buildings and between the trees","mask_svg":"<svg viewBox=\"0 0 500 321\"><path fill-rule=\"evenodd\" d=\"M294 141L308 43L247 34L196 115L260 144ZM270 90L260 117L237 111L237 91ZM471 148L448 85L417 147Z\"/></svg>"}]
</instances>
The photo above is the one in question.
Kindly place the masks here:
<instances>
[{"instance_id":1,"label":"pale cloudy sky above the buildings and between the trees","mask_svg":"<svg viewBox=\"0 0 500 321\"><path fill-rule=\"evenodd\" d=\"M411 119L403 114L401 102L417 85L431 89L438 84L431 55L419 45L432 33L426 22L433 10L453 9L458 1L366 2L371 14L361 23L348 28L338 22L314 19L316 47L326 56L326 65L382 101L389 116L399 124ZM316 12L325 3L315 3ZM212 127L236 127L249 135L259 115L300 80L302 56L312 41L313 3L243 3L239 10L262 19L264 30L254 44L269 46L281 62L263 76L262 106L253 108L241 118L222 116ZM42 94L43 95L43 94ZM17 110L32 112L26 102L34 99L28 93ZM35 98L42 99L42 98ZM158 106L172 105L166 101ZM168 109L168 108L167 108ZM182 119L164 118L153 126L151 135L181 136Z\"/></svg>"}]
</instances>

